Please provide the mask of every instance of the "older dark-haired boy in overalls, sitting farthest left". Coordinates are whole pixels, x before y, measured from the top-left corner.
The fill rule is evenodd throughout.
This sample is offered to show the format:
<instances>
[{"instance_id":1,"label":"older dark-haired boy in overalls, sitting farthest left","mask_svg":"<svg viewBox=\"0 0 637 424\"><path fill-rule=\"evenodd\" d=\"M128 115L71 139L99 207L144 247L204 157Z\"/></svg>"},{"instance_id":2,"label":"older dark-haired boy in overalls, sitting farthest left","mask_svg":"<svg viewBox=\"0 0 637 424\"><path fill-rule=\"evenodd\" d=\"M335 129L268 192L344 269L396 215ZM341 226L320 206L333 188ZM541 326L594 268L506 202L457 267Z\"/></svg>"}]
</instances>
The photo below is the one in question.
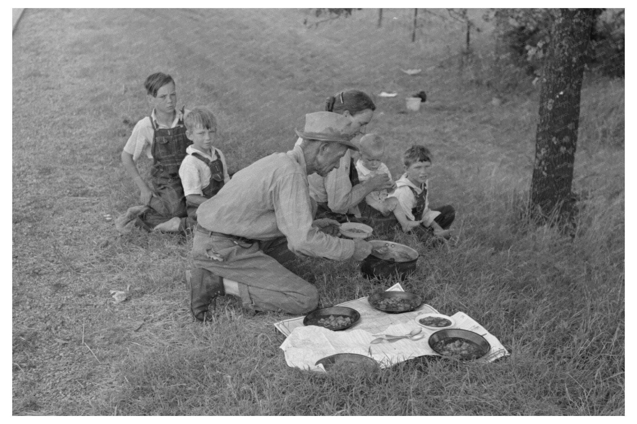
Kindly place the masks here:
<instances>
[{"instance_id":1,"label":"older dark-haired boy in overalls, sitting farthest left","mask_svg":"<svg viewBox=\"0 0 637 424\"><path fill-rule=\"evenodd\" d=\"M178 171L187 147L192 144L183 124L187 111L176 111L175 81L171 76L162 72L152 74L146 79L145 88L152 113L136 123L122 151L122 164L140 189L143 207L130 208L116 224L120 224L118 229L131 222L149 231L185 231L187 210ZM152 188L135 165L142 154L153 160Z\"/></svg>"}]
</instances>

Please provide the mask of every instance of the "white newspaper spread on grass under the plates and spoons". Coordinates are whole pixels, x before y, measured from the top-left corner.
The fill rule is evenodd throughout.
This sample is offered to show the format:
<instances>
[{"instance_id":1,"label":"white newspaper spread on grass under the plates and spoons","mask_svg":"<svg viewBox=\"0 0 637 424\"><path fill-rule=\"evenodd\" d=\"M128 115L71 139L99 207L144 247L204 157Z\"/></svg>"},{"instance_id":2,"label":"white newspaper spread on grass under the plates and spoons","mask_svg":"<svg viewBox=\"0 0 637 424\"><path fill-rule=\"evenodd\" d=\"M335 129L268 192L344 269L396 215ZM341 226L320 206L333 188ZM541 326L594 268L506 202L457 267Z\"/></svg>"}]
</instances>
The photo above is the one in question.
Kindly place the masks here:
<instances>
[{"instance_id":1,"label":"white newspaper spread on grass under the plates and spoons","mask_svg":"<svg viewBox=\"0 0 637 424\"><path fill-rule=\"evenodd\" d=\"M397 283L387 291L404 291ZM317 325L303 325L304 317L290 318L275 323L276 329L287 336L280 348L285 352L285 362L290 367L324 371L322 365L316 362L324 357L336 353L358 353L371 357L379 362L380 367L390 367L398 362L413 359L423 355L438 355L429 347L428 339L436 330L429 330L416 323L415 318L422 313L438 313L428 304L421 305L417 310L405 313L384 313L371 306L367 297L340 303L336 306L347 306L361 314L361 319L354 327L343 331L331 331ZM452 315L455 320L454 328L469 330L484 334L491 345L491 350L485 357L478 359L491 362L509 352L500 341L490 334L482 325L464 312ZM399 339L392 343L383 342L372 345L370 342L377 338L375 334L408 334L413 329L420 328L426 336L419 340Z\"/></svg>"}]
</instances>

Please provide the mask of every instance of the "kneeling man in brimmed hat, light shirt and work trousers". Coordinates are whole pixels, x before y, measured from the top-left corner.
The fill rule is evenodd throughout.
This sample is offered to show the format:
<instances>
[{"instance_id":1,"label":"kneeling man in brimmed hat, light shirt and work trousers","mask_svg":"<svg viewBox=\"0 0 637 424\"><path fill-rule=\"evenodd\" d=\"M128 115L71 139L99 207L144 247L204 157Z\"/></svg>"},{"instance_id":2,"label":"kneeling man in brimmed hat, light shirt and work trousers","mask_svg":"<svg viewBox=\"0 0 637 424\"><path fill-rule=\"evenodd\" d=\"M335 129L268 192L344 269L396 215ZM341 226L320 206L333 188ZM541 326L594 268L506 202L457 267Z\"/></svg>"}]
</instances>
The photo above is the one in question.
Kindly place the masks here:
<instances>
[{"instance_id":1,"label":"kneeling man in brimmed hat, light shirt and work trousers","mask_svg":"<svg viewBox=\"0 0 637 424\"><path fill-rule=\"evenodd\" d=\"M243 168L197 210L190 274L190 308L206 318L215 297L232 294L243 308L302 315L318 305L318 291L285 264L296 256L362 261L364 240L320 231L332 220L313 221L308 175L337 168L352 142L351 121L331 112L306 114L303 139L287 153L273 153Z\"/></svg>"}]
</instances>

